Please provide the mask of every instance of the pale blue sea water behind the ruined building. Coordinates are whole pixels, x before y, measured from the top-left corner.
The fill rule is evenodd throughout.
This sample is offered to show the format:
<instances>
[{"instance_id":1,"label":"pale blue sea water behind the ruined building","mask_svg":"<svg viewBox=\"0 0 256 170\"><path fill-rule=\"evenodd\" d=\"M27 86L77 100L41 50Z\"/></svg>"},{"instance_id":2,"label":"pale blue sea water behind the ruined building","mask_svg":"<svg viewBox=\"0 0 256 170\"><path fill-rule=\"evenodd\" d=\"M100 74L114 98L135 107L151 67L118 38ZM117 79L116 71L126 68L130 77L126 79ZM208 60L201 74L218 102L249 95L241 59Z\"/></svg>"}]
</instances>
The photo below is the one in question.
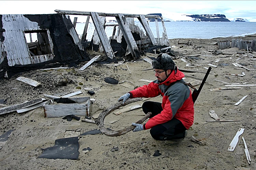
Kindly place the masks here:
<instances>
[{"instance_id":1,"label":"pale blue sea water behind the ruined building","mask_svg":"<svg viewBox=\"0 0 256 170\"><path fill-rule=\"evenodd\" d=\"M113 23L111 23L113 24ZM118 24L118 23L116 23ZM136 24L144 31L139 22ZM256 34L256 22L164 22L168 39L174 38L202 38L236 37ZM85 23L77 23L76 31L81 36ZM157 37L156 23L149 22L150 29ZM113 34L113 26L107 26L107 36ZM162 37L162 23L158 22L159 36ZM91 40L94 33L93 23L89 23L86 39ZM145 32L145 31L144 31Z\"/></svg>"}]
</instances>

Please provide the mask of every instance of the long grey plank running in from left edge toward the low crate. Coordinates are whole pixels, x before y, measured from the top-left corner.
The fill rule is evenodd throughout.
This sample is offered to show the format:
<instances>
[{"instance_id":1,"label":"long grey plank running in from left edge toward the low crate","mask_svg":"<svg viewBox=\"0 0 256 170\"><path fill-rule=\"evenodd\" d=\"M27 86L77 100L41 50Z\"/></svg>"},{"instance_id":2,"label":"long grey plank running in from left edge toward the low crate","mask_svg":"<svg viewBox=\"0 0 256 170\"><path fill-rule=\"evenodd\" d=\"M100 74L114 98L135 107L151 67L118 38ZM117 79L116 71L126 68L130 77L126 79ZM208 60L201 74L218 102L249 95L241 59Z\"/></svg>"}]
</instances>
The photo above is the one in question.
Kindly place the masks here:
<instances>
[{"instance_id":1,"label":"long grey plank running in from left edge toward the low crate","mask_svg":"<svg viewBox=\"0 0 256 170\"><path fill-rule=\"evenodd\" d=\"M33 100L33 101L29 101L29 102L23 102L23 103L20 103L20 104L15 104L15 105L12 105L12 106L3 107L3 108L0 108L0 115L6 114L6 113L11 113L11 112L19 110L21 108L30 107L30 106L38 104L40 102L43 102L43 99L40 98L40 99L36 99L36 100Z\"/></svg>"}]
</instances>

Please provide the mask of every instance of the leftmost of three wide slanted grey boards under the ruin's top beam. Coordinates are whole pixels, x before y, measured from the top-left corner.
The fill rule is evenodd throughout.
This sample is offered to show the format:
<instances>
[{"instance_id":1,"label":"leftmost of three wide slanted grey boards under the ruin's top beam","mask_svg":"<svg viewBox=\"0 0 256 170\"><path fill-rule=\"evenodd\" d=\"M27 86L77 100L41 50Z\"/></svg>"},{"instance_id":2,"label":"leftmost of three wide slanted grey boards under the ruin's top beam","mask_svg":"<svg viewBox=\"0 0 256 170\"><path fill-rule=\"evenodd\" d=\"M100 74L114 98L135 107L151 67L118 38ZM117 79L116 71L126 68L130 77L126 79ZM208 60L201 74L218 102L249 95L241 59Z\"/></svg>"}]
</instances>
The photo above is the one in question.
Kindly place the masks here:
<instances>
[{"instance_id":1,"label":"leftmost of three wide slanted grey boards under the ruin's top beam","mask_svg":"<svg viewBox=\"0 0 256 170\"><path fill-rule=\"evenodd\" d=\"M107 34L105 33L103 25L100 23L98 14L96 12L91 12L91 16L93 19L95 30L98 33L99 40L103 46L106 56L109 57L110 59L113 59L115 57L115 54L111 48L110 42L108 41L108 37L107 37Z\"/></svg>"}]
</instances>

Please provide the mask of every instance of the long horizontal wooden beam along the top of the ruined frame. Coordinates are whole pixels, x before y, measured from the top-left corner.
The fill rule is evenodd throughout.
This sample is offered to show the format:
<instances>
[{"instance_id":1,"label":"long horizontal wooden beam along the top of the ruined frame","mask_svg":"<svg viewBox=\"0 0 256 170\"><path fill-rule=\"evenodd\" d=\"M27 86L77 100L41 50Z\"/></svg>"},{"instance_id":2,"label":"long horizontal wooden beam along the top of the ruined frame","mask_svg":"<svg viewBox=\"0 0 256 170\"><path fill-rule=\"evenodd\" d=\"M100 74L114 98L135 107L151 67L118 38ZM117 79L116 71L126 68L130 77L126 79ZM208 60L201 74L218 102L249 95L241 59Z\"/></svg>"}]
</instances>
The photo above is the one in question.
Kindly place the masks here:
<instances>
[{"instance_id":1,"label":"long horizontal wooden beam along the top of the ruined frame","mask_svg":"<svg viewBox=\"0 0 256 170\"><path fill-rule=\"evenodd\" d=\"M67 15L80 15L80 16L91 16L92 12L84 12L84 11L67 11L67 10L54 10L59 14L67 14ZM98 13L101 17L118 17L118 13ZM139 17L139 14L122 14L124 17ZM158 15L145 15L145 17L150 18L159 18Z\"/></svg>"}]
</instances>

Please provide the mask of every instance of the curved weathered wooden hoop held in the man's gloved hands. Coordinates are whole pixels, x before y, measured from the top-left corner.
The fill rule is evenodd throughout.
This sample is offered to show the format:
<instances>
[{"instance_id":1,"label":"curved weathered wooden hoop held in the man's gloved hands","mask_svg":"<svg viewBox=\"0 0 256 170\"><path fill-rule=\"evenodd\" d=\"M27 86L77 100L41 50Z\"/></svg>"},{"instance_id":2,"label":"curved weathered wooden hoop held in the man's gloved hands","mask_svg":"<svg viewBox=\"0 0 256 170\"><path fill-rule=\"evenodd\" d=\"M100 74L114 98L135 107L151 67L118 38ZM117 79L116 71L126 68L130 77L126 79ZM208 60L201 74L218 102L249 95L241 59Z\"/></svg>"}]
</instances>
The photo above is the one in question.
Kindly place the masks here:
<instances>
[{"instance_id":1,"label":"curved weathered wooden hoop held in the man's gloved hands","mask_svg":"<svg viewBox=\"0 0 256 170\"><path fill-rule=\"evenodd\" d=\"M107 115L109 115L112 111L118 109L121 106L124 106L126 104L130 104L132 102L138 102L138 101L142 101L141 98L134 98L134 99L128 99L124 104L122 104L122 102L118 102L116 104L114 104L113 106L109 107L108 109L104 110L103 112L100 113L100 115L98 116L98 120L97 120L97 125L99 127L99 130L106 136L120 136L123 134L126 134L127 132L130 132L131 130L133 130L135 128L135 126L129 126L126 127L124 129L118 130L118 131L112 131L112 130L108 130L104 127L104 119ZM151 115L151 112L147 113L142 119L138 120L136 123L142 123L143 121L145 121L146 119L148 119Z\"/></svg>"}]
</instances>

